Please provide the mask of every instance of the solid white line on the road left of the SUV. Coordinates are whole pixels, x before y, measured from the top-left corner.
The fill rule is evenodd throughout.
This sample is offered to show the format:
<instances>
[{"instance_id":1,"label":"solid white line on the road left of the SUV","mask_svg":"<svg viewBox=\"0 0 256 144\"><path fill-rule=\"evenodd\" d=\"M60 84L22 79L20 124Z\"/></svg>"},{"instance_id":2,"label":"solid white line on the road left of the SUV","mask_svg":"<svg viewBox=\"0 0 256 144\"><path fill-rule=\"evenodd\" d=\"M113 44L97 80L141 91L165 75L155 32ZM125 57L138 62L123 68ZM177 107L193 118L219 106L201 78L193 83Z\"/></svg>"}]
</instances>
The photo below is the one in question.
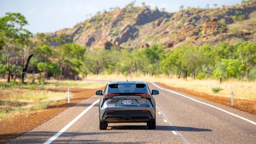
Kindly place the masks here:
<instances>
[{"instance_id":1,"label":"solid white line on the road left of the SUV","mask_svg":"<svg viewBox=\"0 0 256 144\"><path fill-rule=\"evenodd\" d=\"M63 127L59 132L57 132L54 136L52 136L50 139L48 139L44 144L50 144L52 143L57 137L59 137L63 132L65 132L71 125L73 125L79 118L81 118L87 111L89 111L95 104L97 104L100 101L98 99L94 103L92 103L88 108L86 108L83 112L81 112L76 118L74 118L69 124L67 124L65 127Z\"/></svg>"}]
</instances>

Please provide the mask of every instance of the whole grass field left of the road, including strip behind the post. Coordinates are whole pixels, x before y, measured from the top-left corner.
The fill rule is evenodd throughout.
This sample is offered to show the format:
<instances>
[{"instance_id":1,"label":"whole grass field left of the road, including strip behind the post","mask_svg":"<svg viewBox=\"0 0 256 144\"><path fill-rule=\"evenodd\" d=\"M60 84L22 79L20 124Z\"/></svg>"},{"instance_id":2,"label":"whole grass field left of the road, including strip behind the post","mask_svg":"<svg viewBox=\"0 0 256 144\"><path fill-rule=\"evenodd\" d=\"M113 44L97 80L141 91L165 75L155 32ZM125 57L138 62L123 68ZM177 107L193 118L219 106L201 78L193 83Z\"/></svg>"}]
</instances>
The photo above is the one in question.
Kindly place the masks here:
<instances>
[{"instance_id":1,"label":"whole grass field left of the road, including strip behind the post","mask_svg":"<svg viewBox=\"0 0 256 144\"><path fill-rule=\"evenodd\" d=\"M6 80L0 80L5 82ZM46 109L49 104L67 98L67 88L95 89L104 82L47 80L45 85L14 85L0 89L0 119L30 111ZM60 88L64 88L61 89Z\"/></svg>"}]
</instances>

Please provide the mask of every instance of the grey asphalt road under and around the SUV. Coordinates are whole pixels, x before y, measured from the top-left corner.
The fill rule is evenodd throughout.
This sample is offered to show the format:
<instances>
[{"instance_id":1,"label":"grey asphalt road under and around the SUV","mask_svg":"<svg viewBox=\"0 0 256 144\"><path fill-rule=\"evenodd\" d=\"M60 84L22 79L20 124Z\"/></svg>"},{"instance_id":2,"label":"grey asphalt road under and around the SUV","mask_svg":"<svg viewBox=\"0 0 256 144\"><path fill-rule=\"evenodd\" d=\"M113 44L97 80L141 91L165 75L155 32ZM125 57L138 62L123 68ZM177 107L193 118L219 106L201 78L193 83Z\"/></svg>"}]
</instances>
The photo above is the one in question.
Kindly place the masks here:
<instances>
[{"instance_id":1,"label":"grey asphalt road under and around the SUV","mask_svg":"<svg viewBox=\"0 0 256 144\"><path fill-rule=\"evenodd\" d=\"M154 96L157 105L156 130L148 130L146 123L110 123L107 130L99 130L99 112L96 101L100 96L94 95L80 104L66 109L43 125L12 140L9 144L50 142L47 140L56 134L56 139L52 139L52 144L256 144L256 125L230 113L252 122L256 122L255 115L185 94L199 102L211 104L230 113L223 112L179 94L161 90L152 83L148 84L151 90L159 90L160 93ZM92 106L91 104L94 102L95 105ZM83 115L80 114L82 112ZM78 116L79 114L80 116ZM62 132L59 132L60 130Z\"/></svg>"}]
</instances>

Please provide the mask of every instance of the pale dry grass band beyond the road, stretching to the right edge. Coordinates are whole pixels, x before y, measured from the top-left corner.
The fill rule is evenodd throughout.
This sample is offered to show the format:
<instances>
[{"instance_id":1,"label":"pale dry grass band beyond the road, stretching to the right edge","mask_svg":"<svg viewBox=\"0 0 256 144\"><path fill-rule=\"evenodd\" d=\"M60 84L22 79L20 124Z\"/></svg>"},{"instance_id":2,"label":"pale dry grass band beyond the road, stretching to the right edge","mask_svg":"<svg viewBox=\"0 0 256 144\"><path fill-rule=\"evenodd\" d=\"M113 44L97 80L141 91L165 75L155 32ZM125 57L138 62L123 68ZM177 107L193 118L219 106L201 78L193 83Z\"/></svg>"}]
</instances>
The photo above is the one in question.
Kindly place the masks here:
<instances>
[{"instance_id":1,"label":"pale dry grass band beyond the road, stretching to the right edge","mask_svg":"<svg viewBox=\"0 0 256 144\"><path fill-rule=\"evenodd\" d=\"M172 87L181 87L188 90L194 90L197 92L204 92L207 94L221 96L221 97L231 97L231 91L234 92L234 98L236 99L253 99L256 100L256 81L239 81L239 80L229 80L223 83L219 83L218 80L194 80L188 78L187 80L178 79L175 76L167 78L166 76L123 76L123 75L88 75L87 79L96 80L143 80L147 82L164 83ZM211 91L212 87L220 87L218 93L213 93Z\"/></svg>"}]
</instances>

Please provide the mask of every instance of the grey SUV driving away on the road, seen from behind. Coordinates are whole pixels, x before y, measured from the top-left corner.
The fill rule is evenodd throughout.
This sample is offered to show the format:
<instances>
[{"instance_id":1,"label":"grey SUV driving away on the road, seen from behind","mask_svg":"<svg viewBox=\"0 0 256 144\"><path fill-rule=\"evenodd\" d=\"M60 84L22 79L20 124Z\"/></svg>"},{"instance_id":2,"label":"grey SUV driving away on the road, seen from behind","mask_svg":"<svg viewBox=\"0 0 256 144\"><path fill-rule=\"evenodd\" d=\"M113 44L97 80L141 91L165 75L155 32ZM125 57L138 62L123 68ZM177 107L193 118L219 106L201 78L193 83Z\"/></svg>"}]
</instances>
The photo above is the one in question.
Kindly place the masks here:
<instances>
[{"instance_id":1,"label":"grey SUV driving away on the road, seen from behind","mask_svg":"<svg viewBox=\"0 0 256 144\"><path fill-rule=\"evenodd\" d=\"M111 81L99 102L100 130L106 130L108 123L147 123L149 129L156 129L156 103L147 83L143 81Z\"/></svg>"}]
</instances>

